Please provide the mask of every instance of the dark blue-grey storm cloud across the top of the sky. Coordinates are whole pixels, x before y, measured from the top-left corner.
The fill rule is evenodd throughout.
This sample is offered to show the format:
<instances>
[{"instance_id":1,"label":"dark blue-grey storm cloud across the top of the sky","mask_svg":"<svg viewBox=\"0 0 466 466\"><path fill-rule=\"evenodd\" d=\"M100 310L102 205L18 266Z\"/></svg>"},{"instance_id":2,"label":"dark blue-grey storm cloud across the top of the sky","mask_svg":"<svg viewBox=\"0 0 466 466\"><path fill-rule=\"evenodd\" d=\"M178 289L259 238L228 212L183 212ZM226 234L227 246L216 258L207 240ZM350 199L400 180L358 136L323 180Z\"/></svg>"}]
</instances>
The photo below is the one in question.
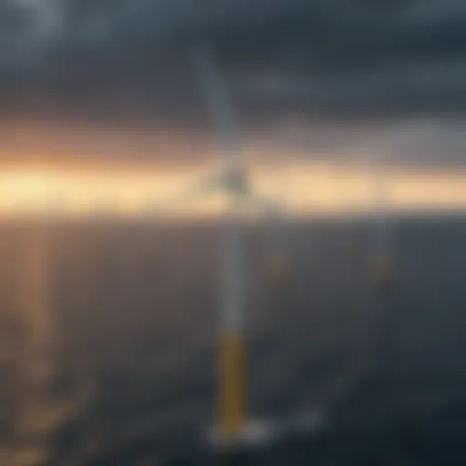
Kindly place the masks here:
<instances>
[{"instance_id":1,"label":"dark blue-grey storm cloud across the top of the sky","mask_svg":"<svg viewBox=\"0 0 466 466\"><path fill-rule=\"evenodd\" d=\"M466 107L460 0L10 0L1 8L3 76L81 103L92 95L163 111L191 105L185 52L202 36L243 106L335 116Z\"/></svg>"}]
</instances>

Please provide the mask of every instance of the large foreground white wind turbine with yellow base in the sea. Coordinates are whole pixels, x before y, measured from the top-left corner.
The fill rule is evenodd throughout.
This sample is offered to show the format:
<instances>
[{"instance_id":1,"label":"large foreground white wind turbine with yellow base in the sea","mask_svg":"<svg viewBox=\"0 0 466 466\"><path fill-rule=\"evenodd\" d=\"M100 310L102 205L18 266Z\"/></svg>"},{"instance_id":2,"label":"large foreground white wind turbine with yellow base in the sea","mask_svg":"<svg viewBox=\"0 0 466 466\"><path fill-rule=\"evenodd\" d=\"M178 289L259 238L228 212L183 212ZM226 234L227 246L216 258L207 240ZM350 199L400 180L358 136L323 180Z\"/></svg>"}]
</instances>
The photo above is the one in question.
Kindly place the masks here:
<instances>
[{"instance_id":1,"label":"large foreground white wind turbine with yellow base in the sea","mask_svg":"<svg viewBox=\"0 0 466 466\"><path fill-rule=\"evenodd\" d=\"M272 240L278 248L269 264L272 278L285 279L289 263L281 247L281 208L273 199L260 194L249 181L238 145L237 123L214 57L208 46L200 45L193 50L192 58L209 110L224 143L225 155L218 170L195 179L192 185L161 203L161 208L185 205L187 201L216 192L228 195L221 271L218 404L213 441L222 447L234 448L253 441L251 437L261 435L259 431L263 433L258 429L258 423L247 419L244 341L247 264L242 227L242 215L246 208L256 208L267 216L271 224Z\"/></svg>"}]
</instances>

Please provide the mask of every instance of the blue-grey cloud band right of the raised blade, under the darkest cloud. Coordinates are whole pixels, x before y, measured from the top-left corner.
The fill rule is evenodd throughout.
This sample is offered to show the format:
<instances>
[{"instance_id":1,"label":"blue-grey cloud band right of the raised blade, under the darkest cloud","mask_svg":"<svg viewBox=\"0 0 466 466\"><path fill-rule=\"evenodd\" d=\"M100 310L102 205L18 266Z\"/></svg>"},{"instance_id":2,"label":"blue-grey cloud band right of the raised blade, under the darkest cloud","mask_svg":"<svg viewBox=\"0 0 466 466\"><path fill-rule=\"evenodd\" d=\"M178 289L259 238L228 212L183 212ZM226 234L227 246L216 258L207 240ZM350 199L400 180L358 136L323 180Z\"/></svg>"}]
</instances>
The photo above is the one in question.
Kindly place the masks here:
<instances>
[{"instance_id":1,"label":"blue-grey cloud band right of the raised blade, under the darkest cloud","mask_svg":"<svg viewBox=\"0 0 466 466\"><path fill-rule=\"evenodd\" d=\"M238 76L245 102L334 113L342 117L397 113L462 112L466 108L466 60L451 58L377 66L352 74L301 76L276 69Z\"/></svg>"}]
</instances>

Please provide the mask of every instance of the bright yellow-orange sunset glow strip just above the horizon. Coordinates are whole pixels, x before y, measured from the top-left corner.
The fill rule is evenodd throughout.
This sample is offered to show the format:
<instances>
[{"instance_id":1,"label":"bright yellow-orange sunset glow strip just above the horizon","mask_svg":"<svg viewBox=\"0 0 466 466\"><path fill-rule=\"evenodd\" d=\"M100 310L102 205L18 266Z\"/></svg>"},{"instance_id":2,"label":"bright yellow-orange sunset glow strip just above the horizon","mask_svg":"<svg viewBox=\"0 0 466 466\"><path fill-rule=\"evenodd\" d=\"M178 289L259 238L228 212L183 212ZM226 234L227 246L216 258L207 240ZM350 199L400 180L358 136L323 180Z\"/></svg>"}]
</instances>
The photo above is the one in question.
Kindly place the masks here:
<instances>
[{"instance_id":1,"label":"bright yellow-orange sunset glow strip just above the horizon","mask_svg":"<svg viewBox=\"0 0 466 466\"><path fill-rule=\"evenodd\" d=\"M203 169L152 167L103 172L8 168L0 176L0 212L17 216L53 212L61 217L105 212L117 217L218 216L221 196L166 206L163 199L186 187ZM373 203L374 180L367 167L294 162L280 167L253 166L251 180L264 194L278 198L290 214L334 215L364 212ZM466 210L466 175L458 172L409 171L392 167L387 202L394 211Z\"/></svg>"}]
</instances>

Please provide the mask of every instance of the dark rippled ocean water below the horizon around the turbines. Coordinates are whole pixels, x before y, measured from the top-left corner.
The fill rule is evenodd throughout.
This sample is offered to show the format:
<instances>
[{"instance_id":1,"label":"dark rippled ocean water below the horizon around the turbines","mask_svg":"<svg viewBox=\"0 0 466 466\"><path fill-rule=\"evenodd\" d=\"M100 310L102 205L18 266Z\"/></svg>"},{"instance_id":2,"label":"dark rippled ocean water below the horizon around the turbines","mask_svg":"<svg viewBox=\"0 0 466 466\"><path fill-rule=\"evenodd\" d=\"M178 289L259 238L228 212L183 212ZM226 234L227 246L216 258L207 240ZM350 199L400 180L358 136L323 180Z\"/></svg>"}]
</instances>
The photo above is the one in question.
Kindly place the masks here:
<instances>
[{"instance_id":1,"label":"dark rippled ocean water below the horizon around the turbines","mask_svg":"<svg viewBox=\"0 0 466 466\"><path fill-rule=\"evenodd\" d=\"M248 227L249 413L327 423L239 464L466 464L466 218L390 231L382 291L362 221L290 225L282 286ZM1 464L213 460L221 225L10 222L0 252Z\"/></svg>"}]
</instances>

